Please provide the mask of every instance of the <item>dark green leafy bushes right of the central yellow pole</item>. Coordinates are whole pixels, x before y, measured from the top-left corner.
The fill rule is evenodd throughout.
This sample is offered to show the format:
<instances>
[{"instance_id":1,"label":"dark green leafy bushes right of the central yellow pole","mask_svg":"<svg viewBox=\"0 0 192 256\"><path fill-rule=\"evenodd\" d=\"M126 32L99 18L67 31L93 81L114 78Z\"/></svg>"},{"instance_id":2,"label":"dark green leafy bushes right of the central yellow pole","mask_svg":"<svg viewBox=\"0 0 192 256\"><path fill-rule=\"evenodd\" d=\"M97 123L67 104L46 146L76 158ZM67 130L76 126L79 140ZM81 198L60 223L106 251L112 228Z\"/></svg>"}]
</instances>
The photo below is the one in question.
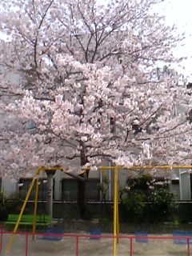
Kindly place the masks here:
<instances>
[{"instance_id":1,"label":"dark green leafy bushes right of the central yellow pole","mask_svg":"<svg viewBox=\"0 0 192 256\"><path fill-rule=\"evenodd\" d=\"M121 216L125 222L162 222L174 219L178 209L175 195L167 183L150 190L150 175L129 178L129 190L120 190Z\"/></svg>"}]
</instances>

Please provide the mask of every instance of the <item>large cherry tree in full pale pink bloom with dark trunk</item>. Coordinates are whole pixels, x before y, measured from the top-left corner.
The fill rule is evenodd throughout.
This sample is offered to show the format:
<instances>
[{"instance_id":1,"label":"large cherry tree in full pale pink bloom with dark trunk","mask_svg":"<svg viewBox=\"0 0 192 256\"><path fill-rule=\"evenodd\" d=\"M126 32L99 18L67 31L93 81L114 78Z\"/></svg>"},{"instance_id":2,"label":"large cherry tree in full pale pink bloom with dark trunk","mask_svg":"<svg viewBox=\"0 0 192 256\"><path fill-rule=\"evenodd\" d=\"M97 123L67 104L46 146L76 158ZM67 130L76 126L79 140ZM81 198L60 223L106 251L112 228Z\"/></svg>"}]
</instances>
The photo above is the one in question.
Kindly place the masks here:
<instances>
[{"instance_id":1,"label":"large cherry tree in full pale pink bloom with dark trunk","mask_svg":"<svg viewBox=\"0 0 192 256\"><path fill-rule=\"evenodd\" d=\"M160 62L177 62L182 39L153 13L159 2L3 1L2 171L190 162L190 95L176 74L157 75ZM78 204L89 218L81 170Z\"/></svg>"}]
</instances>

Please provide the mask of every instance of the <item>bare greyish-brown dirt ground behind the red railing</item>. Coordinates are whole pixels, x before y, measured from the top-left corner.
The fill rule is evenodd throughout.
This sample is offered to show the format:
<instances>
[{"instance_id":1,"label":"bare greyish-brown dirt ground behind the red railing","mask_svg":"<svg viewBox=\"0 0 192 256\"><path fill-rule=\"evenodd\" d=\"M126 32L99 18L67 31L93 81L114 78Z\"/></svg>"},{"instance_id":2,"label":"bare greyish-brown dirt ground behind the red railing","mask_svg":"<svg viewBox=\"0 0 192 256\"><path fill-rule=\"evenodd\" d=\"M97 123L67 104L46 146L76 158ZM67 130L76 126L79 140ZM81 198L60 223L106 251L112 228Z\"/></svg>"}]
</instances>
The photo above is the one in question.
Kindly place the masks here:
<instances>
[{"instance_id":1,"label":"bare greyish-brown dirt ground behind the red railing","mask_svg":"<svg viewBox=\"0 0 192 256\"><path fill-rule=\"evenodd\" d=\"M124 234L125 235L125 234ZM167 235L167 234L166 234ZM161 235L162 237L165 234ZM10 241L10 234L3 234L1 256L76 256L77 238L64 237L59 241L42 239L42 236L31 236L28 238L26 254L26 237L15 235L13 245L7 252L7 244ZM192 250L192 248L191 248ZM78 256L108 256L113 255L113 238L79 238ZM120 238L117 244L117 256L130 256L130 240ZM186 245L174 244L172 239L148 239L148 242L133 241L133 256L189 256ZM192 255L192 253L191 253Z\"/></svg>"}]
</instances>

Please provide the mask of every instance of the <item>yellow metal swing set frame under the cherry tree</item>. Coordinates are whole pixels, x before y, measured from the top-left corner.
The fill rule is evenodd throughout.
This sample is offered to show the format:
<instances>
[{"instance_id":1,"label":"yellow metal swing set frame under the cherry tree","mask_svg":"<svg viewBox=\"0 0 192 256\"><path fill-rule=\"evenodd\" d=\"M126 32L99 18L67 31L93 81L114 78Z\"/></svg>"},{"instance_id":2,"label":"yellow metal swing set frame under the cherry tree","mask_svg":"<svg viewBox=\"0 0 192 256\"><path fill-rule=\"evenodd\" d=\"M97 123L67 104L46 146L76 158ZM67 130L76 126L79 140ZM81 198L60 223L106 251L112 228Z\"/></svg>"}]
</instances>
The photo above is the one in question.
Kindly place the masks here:
<instances>
[{"instance_id":1,"label":"yellow metal swing set frame under the cherry tree","mask_svg":"<svg viewBox=\"0 0 192 256\"><path fill-rule=\"evenodd\" d=\"M82 168L82 173L86 172L86 170L89 170L90 167ZM192 166L133 166L133 167L124 167L124 166L99 166L98 170L102 170L102 173L106 170L113 170L114 171L114 242L113 242L113 255L116 255L117 251L117 243L118 243L118 235L119 235L119 222L118 222L118 171L119 170L132 170L132 171L141 171L141 170L175 170L175 169L192 169ZM39 173L40 171L43 172L49 172L49 171L56 171L56 170L61 170L63 172L67 172L69 168L62 168L62 167L38 167L38 169L35 171L35 176L30 184L30 189L28 190L26 194L26 199L23 203L22 210L18 216L18 222L16 223L13 231L13 235L10 238L10 242L7 246L7 250L10 249L10 246L13 243L14 240L14 234L16 234L18 230L18 225L21 221L22 214L26 208L26 203L28 202L30 198L30 193L33 189L34 184L36 185L35 187L35 200L34 200L34 219L33 219L33 234L35 234L36 230L36 218L37 218L37 209L38 209L38 179L39 179Z\"/></svg>"}]
</instances>

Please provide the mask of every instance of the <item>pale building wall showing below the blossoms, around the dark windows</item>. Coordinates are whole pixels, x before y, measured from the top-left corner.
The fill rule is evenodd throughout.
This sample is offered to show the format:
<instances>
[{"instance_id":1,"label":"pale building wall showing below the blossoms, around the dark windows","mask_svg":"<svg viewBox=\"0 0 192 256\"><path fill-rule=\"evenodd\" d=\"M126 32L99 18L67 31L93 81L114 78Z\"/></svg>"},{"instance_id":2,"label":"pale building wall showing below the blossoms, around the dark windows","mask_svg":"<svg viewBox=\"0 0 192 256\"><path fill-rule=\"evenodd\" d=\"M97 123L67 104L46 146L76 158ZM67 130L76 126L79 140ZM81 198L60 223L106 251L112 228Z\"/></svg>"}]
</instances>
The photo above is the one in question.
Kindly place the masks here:
<instances>
[{"instance_id":1,"label":"pale building wall showing below the blossoms, around the dark windows","mask_svg":"<svg viewBox=\"0 0 192 256\"><path fill-rule=\"evenodd\" d=\"M191 200L191 181L190 181L190 172L187 171L186 173L183 170L179 171L182 173L180 175L180 179L174 179L170 181L170 190L174 192L176 195L176 199L178 201L190 201ZM103 176L105 175L110 184L109 189L106 194L106 200L112 201L114 198L114 173L113 170L105 170L103 173L102 171L93 170L90 171L90 178L89 181L94 181L94 187L93 190L96 190L95 183L102 182ZM31 172L31 174L28 174L27 178L30 178L32 180L34 175L34 171ZM127 170L119 170L118 171L118 187L125 187L126 186L126 180L129 177L130 173ZM43 174L43 172L40 173L40 178L46 179L46 174ZM54 174L54 200L55 201L62 201L62 180L65 179L66 181L74 181L74 178L71 178L70 176L64 174L62 171L57 171L56 174ZM42 182L42 181L41 181ZM73 183L74 183L73 182ZM72 184L72 183L71 183ZM11 195L14 193L18 193L19 190L21 190L20 187L21 183L15 182L10 180L10 178L3 177L2 178L2 191L6 195ZM27 192L27 191L26 191ZM46 196L43 197L44 200L46 200ZM100 197L98 198L102 199L101 193ZM39 199L39 200L42 200ZM64 200L65 201L65 200Z\"/></svg>"}]
</instances>

